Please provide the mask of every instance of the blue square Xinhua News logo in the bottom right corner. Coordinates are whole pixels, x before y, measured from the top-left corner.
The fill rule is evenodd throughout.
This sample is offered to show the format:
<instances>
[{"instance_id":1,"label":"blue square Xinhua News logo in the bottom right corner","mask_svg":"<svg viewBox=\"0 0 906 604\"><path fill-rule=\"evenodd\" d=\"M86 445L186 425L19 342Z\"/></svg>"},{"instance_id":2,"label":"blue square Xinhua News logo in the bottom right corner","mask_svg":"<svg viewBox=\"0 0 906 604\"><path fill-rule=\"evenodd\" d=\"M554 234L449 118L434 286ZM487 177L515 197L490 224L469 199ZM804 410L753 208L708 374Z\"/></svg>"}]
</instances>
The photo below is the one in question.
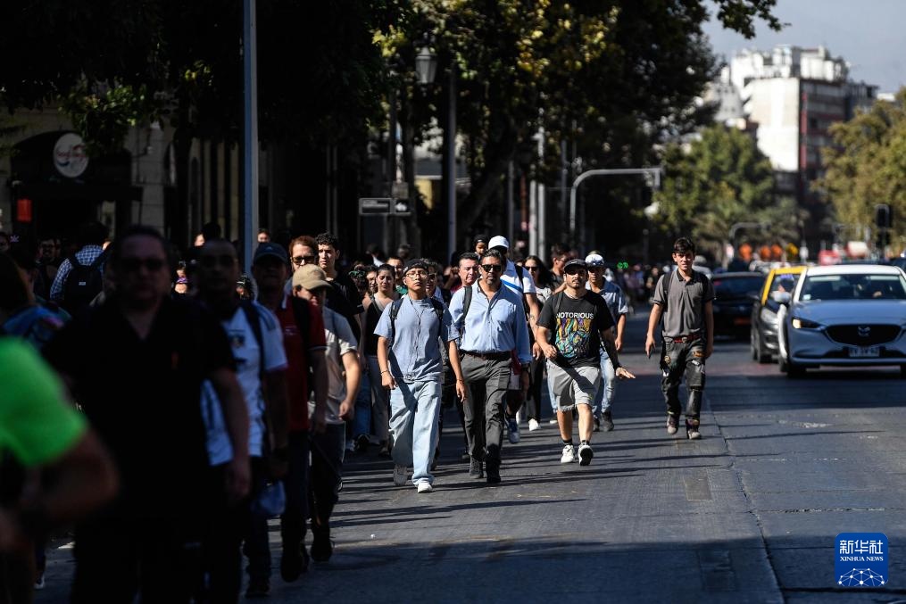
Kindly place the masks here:
<instances>
[{"instance_id":1,"label":"blue square Xinhua News logo in the bottom right corner","mask_svg":"<svg viewBox=\"0 0 906 604\"><path fill-rule=\"evenodd\" d=\"M841 532L834 544L838 587L883 587L890 581L887 535L882 532Z\"/></svg>"}]
</instances>

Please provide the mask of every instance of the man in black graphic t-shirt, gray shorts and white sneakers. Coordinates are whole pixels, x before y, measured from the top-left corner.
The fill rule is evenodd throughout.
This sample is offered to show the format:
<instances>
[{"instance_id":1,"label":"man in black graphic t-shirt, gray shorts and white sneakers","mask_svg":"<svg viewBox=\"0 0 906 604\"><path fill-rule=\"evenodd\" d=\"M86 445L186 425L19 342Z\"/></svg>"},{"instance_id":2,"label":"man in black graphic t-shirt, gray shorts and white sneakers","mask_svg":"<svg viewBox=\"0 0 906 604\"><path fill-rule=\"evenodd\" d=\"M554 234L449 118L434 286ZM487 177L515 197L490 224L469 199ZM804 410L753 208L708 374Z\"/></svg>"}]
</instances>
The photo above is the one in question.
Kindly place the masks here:
<instances>
[{"instance_id":1,"label":"man in black graphic t-shirt, gray shorts and white sneakers","mask_svg":"<svg viewBox=\"0 0 906 604\"><path fill-rule=\"evenodd\" d=\"M620 365L613 343L613 317L601 294L585 289L588 270L584 260L570 260L564 266L563 292L545 302L538 320L538 343L547 358L547 379L557 402L557 420L564 441L561 463L592 462L594 395L601 388L600 347L607 354L617 378L633 379ZM554 343L551 343L551 332ZM579 410L578 456L573 446L573 409Z\"/></svg>"}]
</instances>

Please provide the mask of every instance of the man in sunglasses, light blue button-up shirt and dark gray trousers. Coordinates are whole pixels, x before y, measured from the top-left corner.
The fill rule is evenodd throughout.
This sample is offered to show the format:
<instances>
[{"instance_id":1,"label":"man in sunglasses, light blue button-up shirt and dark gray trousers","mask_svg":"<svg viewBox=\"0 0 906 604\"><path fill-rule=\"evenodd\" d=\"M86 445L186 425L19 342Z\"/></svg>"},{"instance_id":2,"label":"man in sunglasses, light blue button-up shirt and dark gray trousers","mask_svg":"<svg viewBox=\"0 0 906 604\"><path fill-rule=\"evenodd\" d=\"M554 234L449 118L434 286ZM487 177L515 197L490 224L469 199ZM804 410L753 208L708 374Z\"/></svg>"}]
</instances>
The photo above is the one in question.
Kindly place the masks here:
<instances>
[{"instance_id":1,"label":"man in sunglasses, light blue button-up shirt and dark gray trousers","mask_svg":"<svg viewBox=\"0 0 906 604\"><path fill-rule=\"evenodd\" d=\"M495 484L500 482L503 407L512 355L516 353L527 377L532 352L523 299L501 282L504 257L488 250L481 255L480 266L481 279L454 294L450 314L460 333L462 372L469 388L464 406L471 456L468 474L481 478L487 472L487 482Z\"/></svg>"}]
</instances>

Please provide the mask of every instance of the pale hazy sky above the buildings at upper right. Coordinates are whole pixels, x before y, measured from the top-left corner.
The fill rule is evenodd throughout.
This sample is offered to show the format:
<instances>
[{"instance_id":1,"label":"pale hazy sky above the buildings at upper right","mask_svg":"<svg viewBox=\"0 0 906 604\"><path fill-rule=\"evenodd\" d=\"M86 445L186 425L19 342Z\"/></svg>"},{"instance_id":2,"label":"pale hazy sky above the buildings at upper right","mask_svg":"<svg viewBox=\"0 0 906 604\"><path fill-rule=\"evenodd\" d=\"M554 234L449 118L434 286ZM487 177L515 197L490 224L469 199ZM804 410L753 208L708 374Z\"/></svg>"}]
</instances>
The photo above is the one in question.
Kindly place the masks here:
<instances>
[{"instance_id":1,"label":"pale hazy sky above the buildings at upper right","mask_svg":"<svg viewBox=\"0 0 906 604\"><path fill-rule=\"evenodd\" d=\"M713 17L705 24L714 53L730 59L743 48L769 51L776 44L823 45L850 63L854 81L876 84L881 92L906 85L906 0L777 0L774 14L788 24L774 32L762 21L747 40L724 30Z\"/></svg>"}]
</instances>

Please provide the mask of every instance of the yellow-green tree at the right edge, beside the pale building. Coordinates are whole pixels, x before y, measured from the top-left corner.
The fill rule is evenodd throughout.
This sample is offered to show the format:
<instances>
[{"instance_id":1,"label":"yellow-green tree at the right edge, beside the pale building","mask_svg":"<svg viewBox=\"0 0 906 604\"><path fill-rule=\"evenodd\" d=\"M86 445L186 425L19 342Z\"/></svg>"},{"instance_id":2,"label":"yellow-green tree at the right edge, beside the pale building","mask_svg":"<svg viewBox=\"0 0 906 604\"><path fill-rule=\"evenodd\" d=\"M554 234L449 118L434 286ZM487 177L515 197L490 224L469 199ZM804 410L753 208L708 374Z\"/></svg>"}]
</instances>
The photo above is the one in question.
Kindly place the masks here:
<instances>
[{"instance_id":1,"label":"yellow-green tree at the right edge, beside the pale building","mask_svg":"<svg viewBox=\"0 0 906 604\"><path fill-rule=\"evenodd\" d=\"M877 101L853 120L834 124L834 145L823 150L827 171L820 187L834 206L844 235L862 239L874 225L877 204L893 210L891 241L906 247L906 89L894 102Z\"/></svg>"}]
</instances>

